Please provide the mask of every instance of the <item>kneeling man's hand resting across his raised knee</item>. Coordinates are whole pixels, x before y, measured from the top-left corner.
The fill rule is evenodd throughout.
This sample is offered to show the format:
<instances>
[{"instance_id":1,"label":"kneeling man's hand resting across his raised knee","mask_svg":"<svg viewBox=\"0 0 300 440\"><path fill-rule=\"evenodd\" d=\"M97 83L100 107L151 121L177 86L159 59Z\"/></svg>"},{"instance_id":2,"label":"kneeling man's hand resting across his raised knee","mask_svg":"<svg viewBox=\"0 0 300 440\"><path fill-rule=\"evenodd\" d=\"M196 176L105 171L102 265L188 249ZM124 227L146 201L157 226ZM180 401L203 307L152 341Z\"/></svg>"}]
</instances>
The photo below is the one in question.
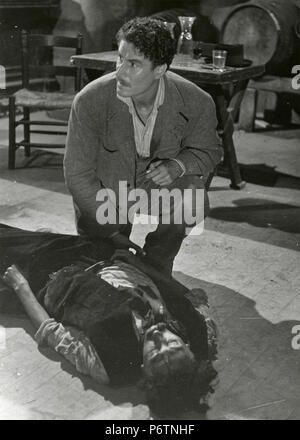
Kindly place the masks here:
<instances>
[{"instance_id":1,"label":"kneeling man's hand resting across his raised knee","mask_svg":"<svg viewBox=\"0 0 300 440\"><path fill-rule=\"evenodd\" d=\"M158 186L168 186L173 183L181 173L182 169L174 160L158 160L150 164L146 172L146 179L152 179Z\"/></svg>"}]
</instances>

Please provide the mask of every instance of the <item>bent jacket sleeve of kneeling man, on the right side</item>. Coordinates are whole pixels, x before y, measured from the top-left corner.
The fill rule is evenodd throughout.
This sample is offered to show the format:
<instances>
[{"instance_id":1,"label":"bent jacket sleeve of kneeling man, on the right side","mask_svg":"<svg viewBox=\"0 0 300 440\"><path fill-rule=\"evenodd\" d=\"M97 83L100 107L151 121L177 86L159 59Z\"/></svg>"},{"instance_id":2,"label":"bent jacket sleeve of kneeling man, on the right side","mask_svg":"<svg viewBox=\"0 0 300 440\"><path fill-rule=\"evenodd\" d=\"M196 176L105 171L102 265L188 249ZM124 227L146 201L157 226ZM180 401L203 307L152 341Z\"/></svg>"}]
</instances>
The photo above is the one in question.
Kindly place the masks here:
<instances>
[{"instance_id":1,"label":"bent jacket sleeve of kneeling man, on the right side","mask_svg":"<svg viewBox=\"0 0 300 440\"><path fill-rule=\"evenodd\" d=\"M223 156L221 140L217 135L217 117L213 99L202 91L197 115L188 124L187 135L177 155L186 168L186 174L203 176L204 181L214 171Z\"/></svg>"}]
</instances>

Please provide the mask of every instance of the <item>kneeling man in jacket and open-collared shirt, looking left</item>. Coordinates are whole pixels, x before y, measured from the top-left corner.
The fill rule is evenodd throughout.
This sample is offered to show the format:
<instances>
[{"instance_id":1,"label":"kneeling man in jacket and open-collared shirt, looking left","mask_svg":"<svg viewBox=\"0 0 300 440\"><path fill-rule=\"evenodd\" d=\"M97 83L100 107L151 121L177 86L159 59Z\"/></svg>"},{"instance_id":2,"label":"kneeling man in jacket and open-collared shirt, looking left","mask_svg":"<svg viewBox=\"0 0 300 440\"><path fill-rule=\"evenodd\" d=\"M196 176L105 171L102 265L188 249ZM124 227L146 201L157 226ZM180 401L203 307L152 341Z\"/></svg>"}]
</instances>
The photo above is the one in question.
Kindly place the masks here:
<instances>
[{"instance_id":1,"label":"kneeling man in jacket and open-collared shirt, looking left","mask_svg":"<svg viewBox=\"0 0 300 440\"><path fill-rule=\"evenodd\" d=\"M129 240L132 200L124 203L120 183L128 193L144 190L150 199L153 190L176 189L183 195L190 189L191 197L171 198L170 221L160 203L150 207L157 211L159 225L148 234L144 252L151 264L170 273L187 226L194 226L186 218L197 223L207 215L205 183L222 157L215 106L207 93L168 70L175 45L163 22L133 19L120 29L117 41L116 71L88 84L73 102L66 184L78 231L108 239L116 248L136 247ZM198 200L196 190L203 195ZM116 221L105 223L103 191ZM185 214L179 221L178 210Z\"/></svg>"}]
</instances>

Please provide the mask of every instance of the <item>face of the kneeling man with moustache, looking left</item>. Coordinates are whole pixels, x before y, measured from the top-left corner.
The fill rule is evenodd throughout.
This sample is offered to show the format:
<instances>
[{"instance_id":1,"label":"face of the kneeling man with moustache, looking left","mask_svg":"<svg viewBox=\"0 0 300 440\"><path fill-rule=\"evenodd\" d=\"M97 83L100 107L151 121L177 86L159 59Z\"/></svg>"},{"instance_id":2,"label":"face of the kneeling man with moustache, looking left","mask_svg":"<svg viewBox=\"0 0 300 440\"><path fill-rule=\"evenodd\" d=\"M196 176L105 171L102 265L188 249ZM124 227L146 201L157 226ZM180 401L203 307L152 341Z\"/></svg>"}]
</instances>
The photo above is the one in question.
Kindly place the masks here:
<instances>
[{"instance_id":1,"label":"face of the kneeling man with moustache, looking left","mask_svg":"<svg viewBox=\"0 0 300 440\"><path fill-rule=\"evenodd\" d=\"M152 61L125 40L120 41L118 55L117 93L124 98L143 96L155 87L164 73L161 66L153 69Z\"/></svg>"}]
</instances>

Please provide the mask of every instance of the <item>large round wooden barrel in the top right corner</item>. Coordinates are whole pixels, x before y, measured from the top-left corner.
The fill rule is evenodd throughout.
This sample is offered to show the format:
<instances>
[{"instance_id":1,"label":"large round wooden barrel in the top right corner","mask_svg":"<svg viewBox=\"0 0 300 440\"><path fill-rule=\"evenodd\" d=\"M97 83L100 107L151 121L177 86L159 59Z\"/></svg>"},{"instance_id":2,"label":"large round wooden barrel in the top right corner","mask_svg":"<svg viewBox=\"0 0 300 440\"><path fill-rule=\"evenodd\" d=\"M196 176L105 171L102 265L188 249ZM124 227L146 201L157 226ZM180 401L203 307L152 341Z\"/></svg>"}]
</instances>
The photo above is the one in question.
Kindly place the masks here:
<instances>
[{"instance_id":1,"label":"large round wooden barrel in the top right corner","mask_svg":"<svg viewBox=\"0 0 300 440\"><path fill-rule=\"evenodd\" d=\"M226 17L221 41L243 44L245 58L266 64L268 72L289 69L297 48L295 24L299 9L290 0L252 0L234 7Z\"/></svg>"}]
</instances>

